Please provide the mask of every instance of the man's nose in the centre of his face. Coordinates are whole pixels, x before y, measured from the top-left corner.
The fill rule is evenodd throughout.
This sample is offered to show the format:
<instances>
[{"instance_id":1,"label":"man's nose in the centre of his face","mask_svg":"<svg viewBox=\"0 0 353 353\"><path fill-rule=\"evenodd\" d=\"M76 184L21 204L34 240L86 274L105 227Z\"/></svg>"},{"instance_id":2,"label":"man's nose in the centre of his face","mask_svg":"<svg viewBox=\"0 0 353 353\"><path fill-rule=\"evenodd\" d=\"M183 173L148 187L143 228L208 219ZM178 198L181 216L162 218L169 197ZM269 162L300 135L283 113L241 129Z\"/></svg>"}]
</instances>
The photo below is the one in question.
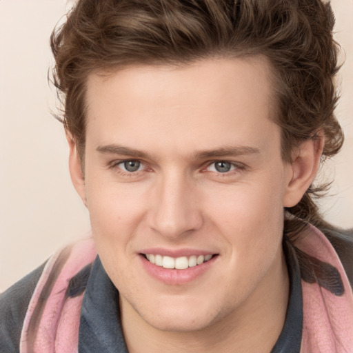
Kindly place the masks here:
<instances>
[{"instance_id":1,"label":"man's nose in the centre of his face","mask_svg":"<svg viewBox=\"0 0 353 353\"><path fill-rule=\"evenodd\" d=\"M170 173L161 177L151 194L150 228L170 239L181 239L199 230L203 217L196 195L194 183L183 174Z\"/></svg>"}]
</instances>

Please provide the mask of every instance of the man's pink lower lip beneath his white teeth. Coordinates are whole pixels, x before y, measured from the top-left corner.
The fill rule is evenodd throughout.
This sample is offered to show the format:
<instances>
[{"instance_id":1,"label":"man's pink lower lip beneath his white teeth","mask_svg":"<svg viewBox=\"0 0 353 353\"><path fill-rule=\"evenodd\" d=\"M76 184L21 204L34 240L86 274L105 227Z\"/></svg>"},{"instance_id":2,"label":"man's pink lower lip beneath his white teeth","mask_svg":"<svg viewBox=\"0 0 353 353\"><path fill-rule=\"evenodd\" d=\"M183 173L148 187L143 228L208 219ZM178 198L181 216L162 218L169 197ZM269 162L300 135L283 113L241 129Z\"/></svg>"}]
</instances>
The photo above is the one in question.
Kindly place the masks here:
<instances>
[{"instance_id":1,"label":"man's pink lower lip beneath his white teeth","mask_svg":"<svg viewBox=\"0 0 353 353\"><path fill-rule=\"evenodd\" d=\"M209 261L193 266L192 268L185 268L185 270L163 268L150 263L143 255L140 255L140 257L143 267L154 279L158 279L165 284L179 285L194 281L204 274L214 264L218 256L213 256Z\"/></svg>"}]
</instances>

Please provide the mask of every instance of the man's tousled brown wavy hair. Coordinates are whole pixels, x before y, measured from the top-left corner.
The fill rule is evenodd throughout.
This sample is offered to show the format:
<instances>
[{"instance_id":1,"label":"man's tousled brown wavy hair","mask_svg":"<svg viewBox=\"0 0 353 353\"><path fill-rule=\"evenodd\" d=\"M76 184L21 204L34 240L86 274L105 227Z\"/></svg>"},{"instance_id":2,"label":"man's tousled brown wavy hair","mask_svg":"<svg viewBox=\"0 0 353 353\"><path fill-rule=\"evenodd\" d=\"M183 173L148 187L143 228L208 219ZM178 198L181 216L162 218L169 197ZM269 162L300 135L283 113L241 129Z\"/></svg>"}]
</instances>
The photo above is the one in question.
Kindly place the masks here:
<instances>
[{"instance_id":1,"label":"man's tousled brown wavy hair","mask_svg":"<svg viewBox=\"0 0 353 353\"><path fill-rule=\"evenodd\" d=\"M323 161L343 144L334 116L339 45L333 27L330 3L321 0L79 0L50 39L53 81L63 103L59 119L84 162L85 88L91 72L263 55L273 69L283 160L290 161L292 149L320 131ZM311 185L298 205L285 210L290 239L309 222L331 229L314 202L325 188Z\"/></svg>"}]
</instances>

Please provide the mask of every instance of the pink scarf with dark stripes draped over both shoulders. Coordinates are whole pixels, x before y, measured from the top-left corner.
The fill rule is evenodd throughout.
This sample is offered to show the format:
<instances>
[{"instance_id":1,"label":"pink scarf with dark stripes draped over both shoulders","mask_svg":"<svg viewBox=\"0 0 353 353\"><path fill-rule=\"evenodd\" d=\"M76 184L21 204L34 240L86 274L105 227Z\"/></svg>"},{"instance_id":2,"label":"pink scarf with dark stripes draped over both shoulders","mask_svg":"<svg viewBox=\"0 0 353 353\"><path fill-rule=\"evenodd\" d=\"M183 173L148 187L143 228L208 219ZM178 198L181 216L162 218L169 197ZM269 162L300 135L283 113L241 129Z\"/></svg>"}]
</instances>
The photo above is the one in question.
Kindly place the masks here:
<instances>
[{"instance_id":1,"label":"pink scarf with dark stripes draped over both shoulders","mask_svg":"<svg viewBox=\"0 0 353 353\"><path fill-rule=\"evenodd\" d=\"M341 274L345 292L336 296L302 280L301 353L353 352L353 293L343 266L327 238L310 226L295 246ZM39 279L21 333L20 353L77 353L83 293L65 296L68 283L97 256L92 239L74 243L52 256ZM50 281L48 281L50 279Z\"/></svg>"}]
</instances>

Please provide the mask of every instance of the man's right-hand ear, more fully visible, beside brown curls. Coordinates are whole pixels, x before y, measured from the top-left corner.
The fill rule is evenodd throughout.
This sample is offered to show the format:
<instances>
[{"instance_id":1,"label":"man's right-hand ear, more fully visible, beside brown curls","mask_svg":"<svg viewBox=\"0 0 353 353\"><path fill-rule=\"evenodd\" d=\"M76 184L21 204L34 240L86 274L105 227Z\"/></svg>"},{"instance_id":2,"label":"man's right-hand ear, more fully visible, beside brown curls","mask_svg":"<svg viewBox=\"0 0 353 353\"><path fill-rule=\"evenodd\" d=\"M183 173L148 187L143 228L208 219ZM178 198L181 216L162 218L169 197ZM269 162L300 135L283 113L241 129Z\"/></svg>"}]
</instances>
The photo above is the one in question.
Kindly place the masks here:
<instances>
[{"instance_id":1,"label":"man's right-hand ear, more fully visible, beside brown curls","mask_svg":"<svg viewBox=\"0 0 353 353\"><path fill-rule=\"evenodd\" d=\"M292 153L288 165L283 207L295 206L314 181L323 152L324 137L317 132L314 137L303 141Z\"/></svg>"}]
</instances>

